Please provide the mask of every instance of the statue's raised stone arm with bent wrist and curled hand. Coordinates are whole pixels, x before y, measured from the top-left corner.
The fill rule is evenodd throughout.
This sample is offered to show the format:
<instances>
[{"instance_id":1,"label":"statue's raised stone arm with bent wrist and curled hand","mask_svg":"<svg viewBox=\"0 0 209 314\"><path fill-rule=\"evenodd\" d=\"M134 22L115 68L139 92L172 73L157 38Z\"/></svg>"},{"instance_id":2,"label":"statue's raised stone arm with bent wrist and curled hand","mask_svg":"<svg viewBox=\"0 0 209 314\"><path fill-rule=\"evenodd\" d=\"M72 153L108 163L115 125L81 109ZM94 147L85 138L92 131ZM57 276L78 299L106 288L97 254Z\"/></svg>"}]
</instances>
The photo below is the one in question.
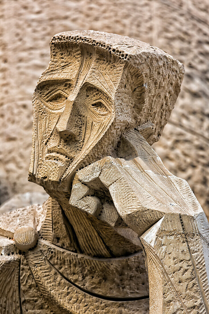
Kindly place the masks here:
<instances>
[{"instance_id":1,"label":"statue's raised stone arm with bent wrist and curled hand","mask_svg":"<svg viewBox=\"0 0 209 314\"><path fill-rule=\"evenodd\" d=\"M209 313L209 225L200 204L139 132L122 141L138 157L106 157L78 171L70 203L111 225L121 217L140 236L151 314Z\"/></svg>"}]
</instances>

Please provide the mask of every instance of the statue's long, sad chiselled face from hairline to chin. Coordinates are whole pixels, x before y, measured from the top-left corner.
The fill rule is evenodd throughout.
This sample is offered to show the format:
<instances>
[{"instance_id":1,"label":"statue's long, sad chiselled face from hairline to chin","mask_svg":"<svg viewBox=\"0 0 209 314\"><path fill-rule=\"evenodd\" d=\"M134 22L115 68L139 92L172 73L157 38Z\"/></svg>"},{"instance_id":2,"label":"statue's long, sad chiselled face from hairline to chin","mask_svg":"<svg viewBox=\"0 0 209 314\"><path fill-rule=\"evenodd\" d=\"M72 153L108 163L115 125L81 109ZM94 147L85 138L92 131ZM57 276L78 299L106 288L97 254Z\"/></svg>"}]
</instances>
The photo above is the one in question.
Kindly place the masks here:
<instances>
[{"instance_id":1,"label":"statue's long, sad chiselled face from hairline to chin","mask_svg":"<svg viewBox=\"0 0 209 314\"><path fill-rule=\"evenodd\" d=\"M56 47L51 53L33 96L29 178L63 190L115 119L123 66L89 45Z\"/></svg>"}]
</instances>

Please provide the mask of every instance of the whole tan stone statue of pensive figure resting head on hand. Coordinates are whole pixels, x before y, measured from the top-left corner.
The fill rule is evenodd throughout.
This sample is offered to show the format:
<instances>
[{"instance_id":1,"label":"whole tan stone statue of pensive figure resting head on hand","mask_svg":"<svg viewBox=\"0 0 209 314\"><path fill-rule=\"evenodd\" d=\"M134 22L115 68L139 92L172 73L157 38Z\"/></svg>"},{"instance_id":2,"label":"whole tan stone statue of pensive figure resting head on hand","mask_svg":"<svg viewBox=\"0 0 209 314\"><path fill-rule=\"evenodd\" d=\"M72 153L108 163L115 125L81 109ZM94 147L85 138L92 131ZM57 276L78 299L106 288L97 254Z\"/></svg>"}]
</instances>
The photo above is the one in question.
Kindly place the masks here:
<instances>
[{"instance_id":1,"label":"whole tan stone statue of pensive figure resting head on hand","mask_svg":"<svg viewBox=\"0 0 209 314\"><path fill-rule=\"evenodd\" d=\"M0 312L208 314L206 216L150 146L183 65L96 31L50 48L29 167L50 197L0 216Z\"/></svg>"}]
</instances>

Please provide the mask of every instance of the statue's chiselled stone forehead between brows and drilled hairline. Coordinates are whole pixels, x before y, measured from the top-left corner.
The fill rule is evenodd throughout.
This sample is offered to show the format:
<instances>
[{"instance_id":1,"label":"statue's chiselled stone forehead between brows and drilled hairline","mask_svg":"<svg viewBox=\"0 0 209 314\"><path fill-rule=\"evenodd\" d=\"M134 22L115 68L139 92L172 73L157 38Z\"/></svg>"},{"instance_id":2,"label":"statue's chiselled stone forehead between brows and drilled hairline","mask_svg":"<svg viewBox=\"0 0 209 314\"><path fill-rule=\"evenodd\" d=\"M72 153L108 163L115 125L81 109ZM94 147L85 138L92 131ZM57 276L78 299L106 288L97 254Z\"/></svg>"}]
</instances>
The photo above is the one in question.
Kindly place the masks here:
<instances>
[{"instance_id":1,"label":"statue's chiselled stone forehead between brows and drilled hairline","mask_svg":"<svg viewBox=\"0 0 209 314\"><path fill-rule=\"evenodd\" d=\"M107 51L90 45L53 46L51 61L38 84L72 80L74 94L84 83L90 83L114 98L125 63Z\"/></svg>"}]
</instances>

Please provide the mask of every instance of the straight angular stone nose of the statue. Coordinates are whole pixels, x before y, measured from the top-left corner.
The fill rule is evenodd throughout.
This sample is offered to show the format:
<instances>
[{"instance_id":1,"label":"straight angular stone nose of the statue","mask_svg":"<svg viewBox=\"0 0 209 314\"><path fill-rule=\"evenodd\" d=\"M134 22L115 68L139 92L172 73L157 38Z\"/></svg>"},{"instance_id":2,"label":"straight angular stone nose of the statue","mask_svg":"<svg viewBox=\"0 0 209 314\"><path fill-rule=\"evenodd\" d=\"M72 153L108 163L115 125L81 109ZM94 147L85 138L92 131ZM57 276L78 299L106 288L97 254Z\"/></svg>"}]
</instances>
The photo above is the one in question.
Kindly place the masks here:
<instances>
[{"instance_id":1,"label":"straight angular stone nose of the statue","mask_svg":"<svg viewBox=\"0 0 209 314\"><path fill-rule=\"evenodd\" d=\"M65 109L56 125L56 129L62 137L76 135L72 111L73 102L67 99L65 102Z\"/></svg>"}]
</instances>

